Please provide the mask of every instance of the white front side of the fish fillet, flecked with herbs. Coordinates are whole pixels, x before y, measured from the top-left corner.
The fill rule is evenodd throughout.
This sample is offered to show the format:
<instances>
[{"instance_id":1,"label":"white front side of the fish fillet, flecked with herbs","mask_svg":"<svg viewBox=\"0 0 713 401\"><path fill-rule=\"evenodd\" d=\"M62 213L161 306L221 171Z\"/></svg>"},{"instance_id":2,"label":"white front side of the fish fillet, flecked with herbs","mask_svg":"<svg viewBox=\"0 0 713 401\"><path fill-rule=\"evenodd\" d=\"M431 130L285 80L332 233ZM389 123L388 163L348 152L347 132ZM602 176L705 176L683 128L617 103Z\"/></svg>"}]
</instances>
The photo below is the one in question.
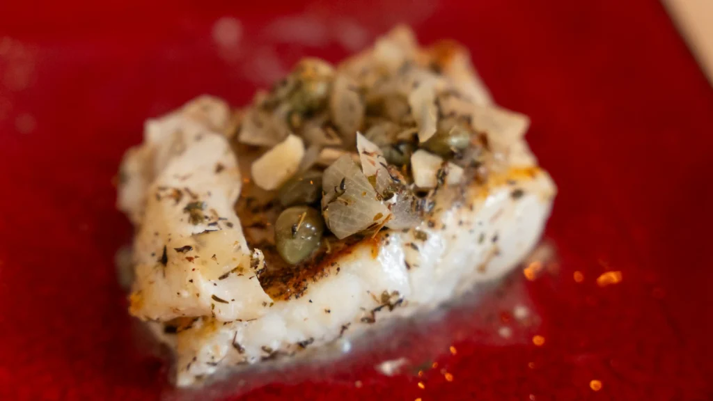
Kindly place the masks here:
<instances>
[{"instance_id":1,"label":"white front side of the fish fillet, flecked with herbs","mask_svg":"<svg viewBox=\"0 0 713 401\"><path fill-rule=\"evenodd\" d=\"M257 363L275 352L299 357L304 347L424 313L478 282L500 278L535 246L556 190L548 174L534 167L491 178L486 188L469 188L465 202L436 210L414 230L386 231L388 237L354 245L299 298L275 300L257 320L201 318L177 335L160 333L175 347L177 384L193 385L196 376ZM436 209L440 204L451 203L443 199Z\"/></svg>"}]
</instances>

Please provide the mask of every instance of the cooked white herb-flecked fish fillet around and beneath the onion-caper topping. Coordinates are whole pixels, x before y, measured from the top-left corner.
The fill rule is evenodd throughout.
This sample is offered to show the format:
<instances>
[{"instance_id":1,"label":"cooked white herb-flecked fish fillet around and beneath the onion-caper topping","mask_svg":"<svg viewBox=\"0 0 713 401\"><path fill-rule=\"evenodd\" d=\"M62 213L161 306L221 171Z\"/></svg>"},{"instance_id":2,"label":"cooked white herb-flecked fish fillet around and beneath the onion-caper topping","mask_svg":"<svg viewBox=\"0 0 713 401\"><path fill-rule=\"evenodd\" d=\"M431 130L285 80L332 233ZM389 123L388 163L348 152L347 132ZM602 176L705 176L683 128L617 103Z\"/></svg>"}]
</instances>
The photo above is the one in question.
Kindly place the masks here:
<instances>
[{"instance_id":1,"label":"cooked white herb-flecked fish fillet around and beneath the onion-caper topping","mask_svg":"<svg viewBox=\"0 0 713 401\"><path fill-rule=\"evenodd\" d=\"M395 51L399 35L374 51ZM553 181L524 141L527 118L491 106L472 68L458 62L451 70L474 93L473 124L501 133L489 138L490 173L432 191L430 212L411 228L324 240L324 253L296 267L275 268L274 247L238 217L255 217L235 204L260 189L250 182L250 163L245 168L254 158L236 155L225 135L225 103L202 97L147 123L144 143L123 161L119 191L119 207L136 228L130 313L173 348L178 385L425 313L501 277L533 249L553 204ZM433 135L428 121L416 124L419 137ZM270 227L257 231L272 238Z\"/></svg>"}]
</instances>

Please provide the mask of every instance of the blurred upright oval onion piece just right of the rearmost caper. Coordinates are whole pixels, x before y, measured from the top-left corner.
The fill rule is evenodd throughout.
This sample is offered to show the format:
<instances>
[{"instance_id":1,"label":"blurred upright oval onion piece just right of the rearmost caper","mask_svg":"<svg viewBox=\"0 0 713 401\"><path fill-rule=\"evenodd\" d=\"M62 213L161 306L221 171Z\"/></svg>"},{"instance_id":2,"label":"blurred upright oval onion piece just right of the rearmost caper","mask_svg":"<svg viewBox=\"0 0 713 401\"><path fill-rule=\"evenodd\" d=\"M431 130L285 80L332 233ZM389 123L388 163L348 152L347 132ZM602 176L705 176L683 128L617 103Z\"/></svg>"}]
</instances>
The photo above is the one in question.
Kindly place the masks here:
<instances>
[{"instance_id":1,"label":"blurred upright oval onion piece just right of the rearmost caper","mask_svg":"<svg viewBox=\"0 0 713 401\"><path fill-rule=\"evenodd\" d=\"M356 141L356 131L361 129L364 123L366 107L348 76L337 74L334 78L332 96L329 96L329 108L332 111L332 121L342 134L344 143L347 146L353 145Z\"/></svg>"}]
</instances>

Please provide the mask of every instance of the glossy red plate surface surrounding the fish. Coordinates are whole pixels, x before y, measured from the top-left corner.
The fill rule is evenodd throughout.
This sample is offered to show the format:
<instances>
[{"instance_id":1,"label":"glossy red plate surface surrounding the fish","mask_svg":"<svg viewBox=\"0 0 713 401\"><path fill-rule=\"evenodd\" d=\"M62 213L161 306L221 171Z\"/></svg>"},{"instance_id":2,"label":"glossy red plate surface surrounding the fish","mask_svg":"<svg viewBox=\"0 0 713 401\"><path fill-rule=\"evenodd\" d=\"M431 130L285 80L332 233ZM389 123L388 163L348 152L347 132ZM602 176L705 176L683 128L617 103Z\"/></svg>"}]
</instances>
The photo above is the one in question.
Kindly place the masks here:
<instances>
[{"instance_id":1,"label":"glossy red plate surface surrounding the fish","mask_svg":"<svg viewBox=\"0 0 713 401\"><path fill-rule=\"evenodd\" d=\"M528 138L560 188L546 233L558 269L511 278L537 324L520 327L506 303L485 303L473 319L488 324L456 330L456 354L443 346L423 377L364 367L245 399L713 399L713 91L656 1L442 0L405 11L382 1L9 3L0 6L1 399L168 397L113 268L130 238L111 186L123 151L149 116L200 93L240 105L265 85L255 71L269 78L305 54L336 61L349 53L337 39L348 24L371 40L397 21L422 42L466 44L497 101L532 117ZM220 46L211 30L225 15L242 31ZM297 15L322 31L285 38L268 28ZM597 285L607 270L621 282ZM513 340L493 337L498 319Z\"/></svg>"}]
</instances>

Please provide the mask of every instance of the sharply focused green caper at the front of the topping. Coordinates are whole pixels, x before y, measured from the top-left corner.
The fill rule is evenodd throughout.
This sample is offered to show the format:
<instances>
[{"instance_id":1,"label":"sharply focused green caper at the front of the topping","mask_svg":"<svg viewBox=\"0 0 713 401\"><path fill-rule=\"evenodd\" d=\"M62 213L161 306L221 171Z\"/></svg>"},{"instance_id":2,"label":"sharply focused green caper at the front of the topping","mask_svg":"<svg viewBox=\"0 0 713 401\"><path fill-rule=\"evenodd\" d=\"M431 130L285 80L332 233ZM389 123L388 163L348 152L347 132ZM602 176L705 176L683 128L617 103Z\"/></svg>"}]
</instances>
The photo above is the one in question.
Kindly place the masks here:
<instances>
[{"instance_id":1,"label":"sharply focused green caper at the front of the topping","mask_svg":"<svg viewBox=\"0 0 713 401\"><path fill-rule=\"evenodd\" d=\"M307 258L319 248L324 221L319 211L307 206L294 206L280 213L275 223L277 253L292 265Z\"/></svg>"}]
</instances>

